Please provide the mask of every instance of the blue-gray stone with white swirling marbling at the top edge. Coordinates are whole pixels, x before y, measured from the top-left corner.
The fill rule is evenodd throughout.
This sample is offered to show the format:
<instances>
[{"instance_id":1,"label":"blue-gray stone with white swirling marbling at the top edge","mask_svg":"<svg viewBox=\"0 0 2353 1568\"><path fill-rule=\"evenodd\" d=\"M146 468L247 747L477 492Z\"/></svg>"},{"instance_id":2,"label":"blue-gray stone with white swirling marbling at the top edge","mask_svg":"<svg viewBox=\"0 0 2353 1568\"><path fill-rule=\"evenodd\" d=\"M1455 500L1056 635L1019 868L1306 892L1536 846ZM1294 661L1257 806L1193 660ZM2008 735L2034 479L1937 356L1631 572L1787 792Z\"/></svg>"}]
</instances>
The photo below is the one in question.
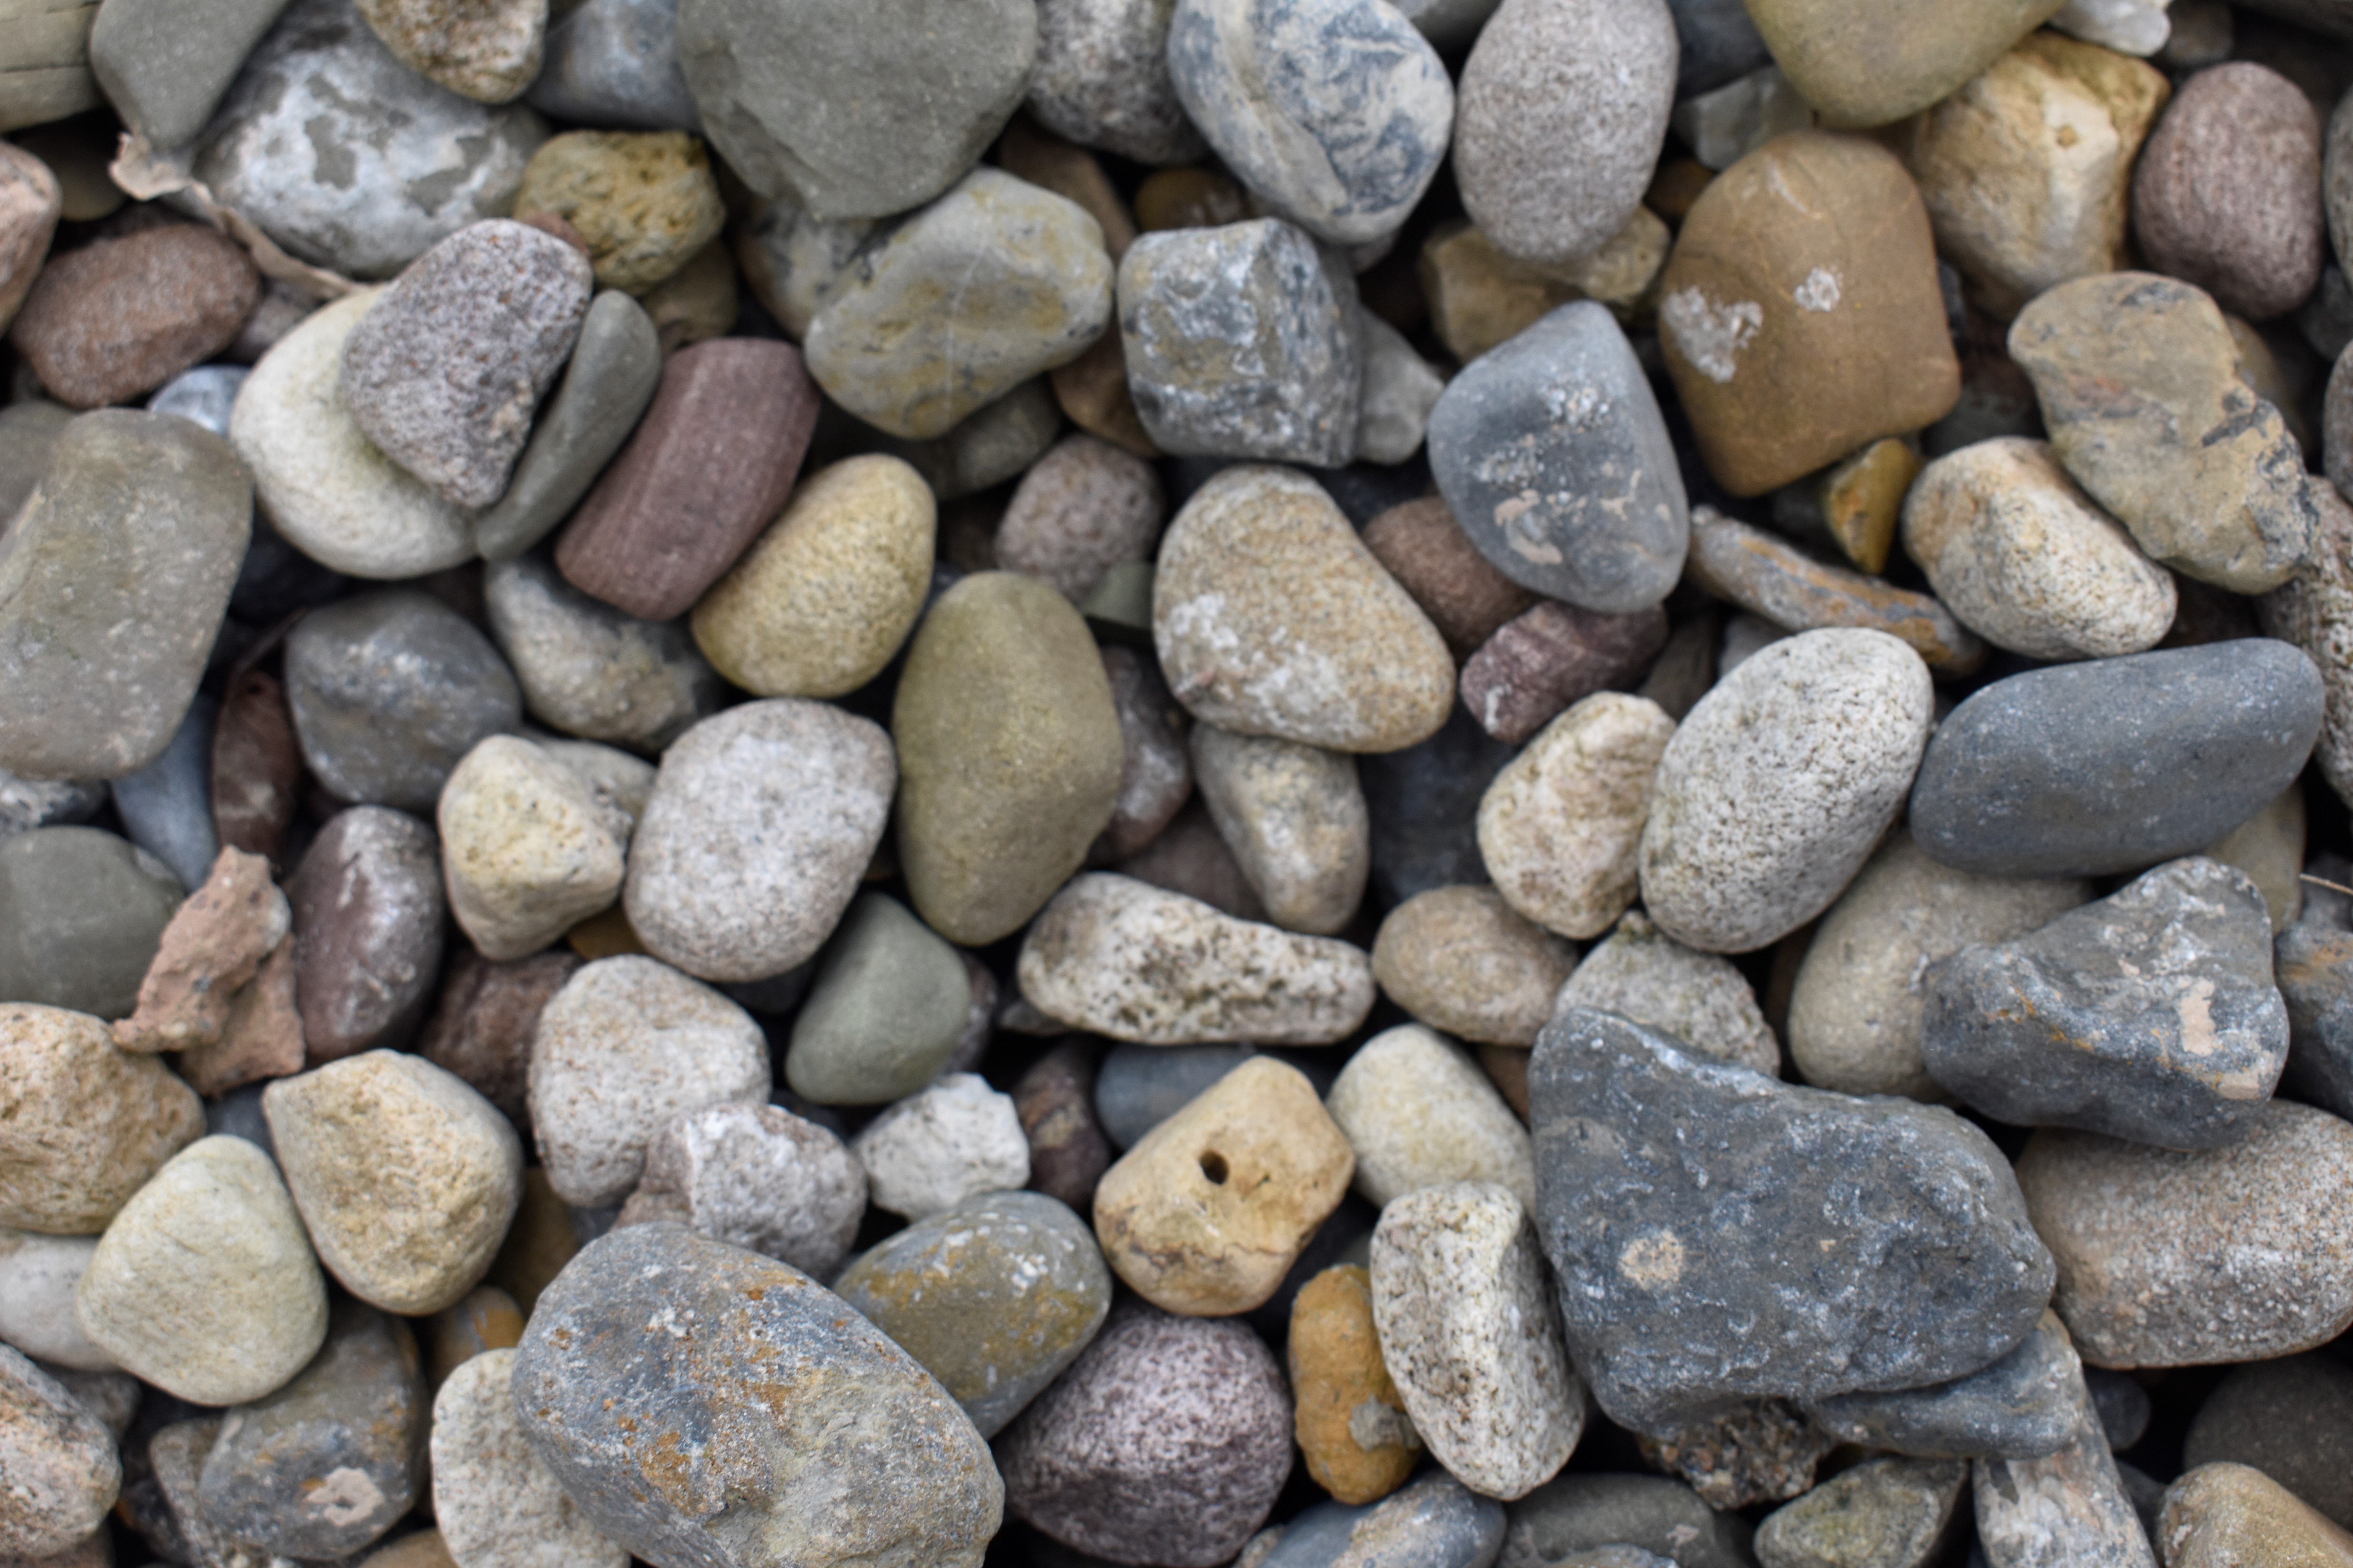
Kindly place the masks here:
<instances>
[{"instance_id":1,"label":"blue-gray stone with white swirling marbling at the top edge","mask_svg":"<svg viewBox=\"0 0 2353 1568\"><path fill-rule=\"evenodd\" d=\"M1438 49L1386 0L1179 0L1169 78L1235 179L1329 244L1393 235L1454 132Z\"/></svg>"}]
</instances>

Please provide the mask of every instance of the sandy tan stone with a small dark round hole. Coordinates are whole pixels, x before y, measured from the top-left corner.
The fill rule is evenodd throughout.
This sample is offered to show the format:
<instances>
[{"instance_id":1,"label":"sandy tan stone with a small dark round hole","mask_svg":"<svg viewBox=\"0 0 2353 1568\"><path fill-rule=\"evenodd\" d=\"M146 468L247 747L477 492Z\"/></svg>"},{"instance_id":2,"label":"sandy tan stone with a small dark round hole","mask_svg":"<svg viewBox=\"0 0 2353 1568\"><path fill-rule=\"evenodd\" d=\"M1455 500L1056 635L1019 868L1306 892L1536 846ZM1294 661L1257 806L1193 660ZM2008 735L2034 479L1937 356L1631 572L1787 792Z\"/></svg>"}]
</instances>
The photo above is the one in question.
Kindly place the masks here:
<instances>
[{"instance_id":1,"label":"sandy tan stone with a small dark round hole","mask_svg":"<svg viewBox=\"0 0 2353 1568\"><path fill-rule=\"evenodd\" d=\"M1094 1190L1113 1272L1165 1312L1226 1316L1275 1293L1355 1173L1297 1067L1254 1056L1127 1150Z\"/></svg>"}]
</instances>

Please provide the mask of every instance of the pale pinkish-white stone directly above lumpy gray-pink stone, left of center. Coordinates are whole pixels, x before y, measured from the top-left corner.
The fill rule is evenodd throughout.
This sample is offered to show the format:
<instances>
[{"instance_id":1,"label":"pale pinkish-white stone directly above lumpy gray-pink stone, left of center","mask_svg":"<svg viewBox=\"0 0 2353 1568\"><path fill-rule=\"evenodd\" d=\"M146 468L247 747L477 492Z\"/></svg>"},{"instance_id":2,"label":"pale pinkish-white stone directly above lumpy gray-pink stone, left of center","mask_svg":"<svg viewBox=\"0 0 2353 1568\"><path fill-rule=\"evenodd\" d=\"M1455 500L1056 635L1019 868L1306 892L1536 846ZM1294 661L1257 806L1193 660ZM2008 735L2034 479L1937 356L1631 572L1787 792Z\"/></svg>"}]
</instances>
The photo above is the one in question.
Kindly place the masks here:
<instances>
[{"instance_id":1,"label":"pale pinkish-white stone directly above lumpy gray-pink stone, left of center","mask_svg":"<svg viewBox=\"0 0 2353 1568\"><path fill-rule=\"evenodd\" d=\"M539 1161L555 1194L579 1208L628 1197L671 1117L762 1105L767 1091L767 1039L751 1013L647 957L574 973L532 1037Z\"/></svg>"}]
</instances>

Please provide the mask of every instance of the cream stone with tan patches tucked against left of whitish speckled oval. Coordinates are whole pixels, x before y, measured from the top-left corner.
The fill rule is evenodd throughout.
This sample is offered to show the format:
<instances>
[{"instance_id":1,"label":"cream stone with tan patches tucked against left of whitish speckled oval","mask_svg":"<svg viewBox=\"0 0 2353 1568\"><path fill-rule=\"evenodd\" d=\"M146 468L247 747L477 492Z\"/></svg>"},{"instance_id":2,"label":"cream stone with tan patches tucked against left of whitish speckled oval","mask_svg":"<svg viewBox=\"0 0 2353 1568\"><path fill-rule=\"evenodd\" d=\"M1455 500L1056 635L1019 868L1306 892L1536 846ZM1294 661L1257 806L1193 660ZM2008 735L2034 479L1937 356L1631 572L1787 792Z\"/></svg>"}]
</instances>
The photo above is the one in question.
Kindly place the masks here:
<instances>
[{"instance_id":1,"label":"cream stone with tan patches tucked against left of whitish speckled oval","mask_svg":"<svg viewBox=\"0 0 2353 1568\"><path fill-rule=\"evenodd\" d=\"M1673 733L1649 698L1595 691L1504 764L1478 804L1480 858L1504 903L1560 936L1607 931L1633 903Z\"/></svg>"}]
</instances>

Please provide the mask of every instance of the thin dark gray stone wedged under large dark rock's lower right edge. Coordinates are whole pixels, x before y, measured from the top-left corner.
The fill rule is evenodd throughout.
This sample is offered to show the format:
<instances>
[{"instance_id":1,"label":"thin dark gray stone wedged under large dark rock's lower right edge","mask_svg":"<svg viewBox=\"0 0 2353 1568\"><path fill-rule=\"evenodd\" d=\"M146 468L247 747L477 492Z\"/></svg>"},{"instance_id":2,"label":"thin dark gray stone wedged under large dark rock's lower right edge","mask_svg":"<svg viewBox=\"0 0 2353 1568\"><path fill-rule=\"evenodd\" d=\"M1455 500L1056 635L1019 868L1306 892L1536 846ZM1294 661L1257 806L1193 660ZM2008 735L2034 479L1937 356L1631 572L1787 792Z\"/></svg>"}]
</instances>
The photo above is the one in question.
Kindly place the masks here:
<instances>
[{"instance_id":1,"label":"thin dark gray stone wedged under large dark rock's lower right edge","mask_svg":"<svg viewBox=\"0 0 2353 1568\"><path fill-rule=\"evenodd\" d=\"M1838 1394L1814 1403L1812 1415L1847 1443L1922 1460L2038 1458L2059 1453L2075 1434L2073 1378L2066 1331L2057 1314L2045 1314L2017 1349L1967 1378Z\"/></svg>"}]
</instances>

